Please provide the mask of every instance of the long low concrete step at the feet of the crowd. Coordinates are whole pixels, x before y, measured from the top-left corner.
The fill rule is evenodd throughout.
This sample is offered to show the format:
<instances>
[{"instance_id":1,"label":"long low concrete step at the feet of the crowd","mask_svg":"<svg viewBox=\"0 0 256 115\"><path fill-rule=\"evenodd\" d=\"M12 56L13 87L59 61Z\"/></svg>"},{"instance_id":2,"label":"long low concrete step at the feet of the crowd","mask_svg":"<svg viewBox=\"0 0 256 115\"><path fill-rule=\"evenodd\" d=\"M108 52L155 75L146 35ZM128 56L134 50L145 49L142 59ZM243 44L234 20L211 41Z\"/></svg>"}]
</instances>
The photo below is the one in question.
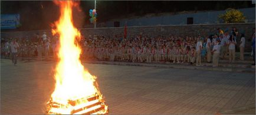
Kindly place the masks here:
<instances>
[{"instance_id":1,"label":"long low concrete step at the feet of the crowd","mask_svg":"<svg viewBox=\"0 0 256 115\"><path fill-rule=\"evenodd\" d=\"M8 57L1 57L8 58ZM23 58L25 61L28 58ZM18 61L21 61L21 58L18 58ZM30 58L29 61L37 61L36 57ZM29 62L28 61L28 62ZM43 61L56 61L56 59L50 59ZM91 64L111 64L111 65L132 65L132 66L144 66L144 67L164 67L164 68L183 68L183 69L194 69L194 70L211 70L211 71L234 71L234 72L244 72L244 73L255 73L255 66L251 66L251 63L219 63L219 67L212 67L211 63L202 63L201 66L191 65L189 63L169 63L169 62L160 62L160 63L132 63L128 61L97 61L97 60L83 60L84 63Z\"/></svg>"}]
</instances>

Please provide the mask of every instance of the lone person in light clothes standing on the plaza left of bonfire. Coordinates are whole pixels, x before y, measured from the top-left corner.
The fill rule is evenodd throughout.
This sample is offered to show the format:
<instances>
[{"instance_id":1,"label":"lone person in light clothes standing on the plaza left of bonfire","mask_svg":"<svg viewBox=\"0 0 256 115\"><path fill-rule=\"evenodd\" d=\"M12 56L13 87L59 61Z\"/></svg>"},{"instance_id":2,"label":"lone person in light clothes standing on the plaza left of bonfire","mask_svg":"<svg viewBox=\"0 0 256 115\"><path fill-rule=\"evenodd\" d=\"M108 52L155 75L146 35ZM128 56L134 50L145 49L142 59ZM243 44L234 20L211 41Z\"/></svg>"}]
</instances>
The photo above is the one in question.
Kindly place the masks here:
<instances>
[{"instance_id":1,"label":"lone person in light clothes standing on the plaza left of bonfire","mask_svg":"<svg viewBox=\"0 0 256 115\"><path fill-rule=\"evenodd\" d=\"M12 64L16 65L17 64L17 52L19 48L18 42L14 39L12 40L11 44L11 51L12 51Z\"/></svg>"}]
</instances>

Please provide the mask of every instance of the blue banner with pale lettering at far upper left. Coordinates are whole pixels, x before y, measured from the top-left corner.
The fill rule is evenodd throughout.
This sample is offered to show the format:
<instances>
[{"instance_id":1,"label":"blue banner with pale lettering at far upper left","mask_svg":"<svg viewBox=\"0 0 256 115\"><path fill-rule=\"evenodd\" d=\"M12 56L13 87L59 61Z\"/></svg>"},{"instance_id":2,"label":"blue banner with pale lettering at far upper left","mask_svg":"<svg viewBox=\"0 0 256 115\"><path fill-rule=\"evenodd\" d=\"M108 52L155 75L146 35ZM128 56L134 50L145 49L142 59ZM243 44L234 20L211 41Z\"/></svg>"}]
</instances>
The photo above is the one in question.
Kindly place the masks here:
<instances>
[{"instance_id":1,"label":"blue banner with pale lettering at far upper left","mask_svg":"<svg viewBox=\"0 0 256 115\"><path fill-rule=\"evenodd\" d=\"M15 29L19 26L19 14L1 14L1 29Z\"/></svg>"}]
</instances>

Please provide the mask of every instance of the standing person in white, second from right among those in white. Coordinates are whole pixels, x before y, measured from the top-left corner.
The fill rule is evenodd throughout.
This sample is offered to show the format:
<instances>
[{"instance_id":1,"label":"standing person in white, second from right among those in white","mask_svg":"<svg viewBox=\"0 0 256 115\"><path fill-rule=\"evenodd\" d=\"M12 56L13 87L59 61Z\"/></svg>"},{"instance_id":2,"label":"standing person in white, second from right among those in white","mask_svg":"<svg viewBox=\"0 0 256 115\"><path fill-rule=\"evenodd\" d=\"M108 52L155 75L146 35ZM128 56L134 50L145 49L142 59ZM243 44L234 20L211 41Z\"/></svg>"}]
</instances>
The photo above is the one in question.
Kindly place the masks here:
<instances>
[{"instance_id":1,"label":"standing person in white, second from right among those in white","mask_svg":"<svg viewBox=\"0 0 256 115\"><path fill-rule=\"evenodd\" d=\"M234 35L231 35L228 40L228 52L229 52L229 63L235 62L235 45L237 41L234 38Z\"/></svg>"}]
</instances>

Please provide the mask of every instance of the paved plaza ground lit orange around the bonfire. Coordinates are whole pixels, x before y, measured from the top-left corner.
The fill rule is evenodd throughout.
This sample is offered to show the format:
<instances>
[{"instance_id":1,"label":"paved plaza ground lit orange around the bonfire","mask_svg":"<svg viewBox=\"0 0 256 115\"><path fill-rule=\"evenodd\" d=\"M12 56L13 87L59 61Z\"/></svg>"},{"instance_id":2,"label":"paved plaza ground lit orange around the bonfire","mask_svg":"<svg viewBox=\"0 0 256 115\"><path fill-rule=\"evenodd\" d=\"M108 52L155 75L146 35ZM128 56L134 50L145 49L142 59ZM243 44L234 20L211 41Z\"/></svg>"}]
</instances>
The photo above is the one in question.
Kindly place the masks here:
<instances>
[{"instance_id":1,"label":"paved plaza ground lit orange around the bonfire","mask_svg":"<svg viewBox=\"0 0 256 115\"><path fill-rule=\"evenodd\" d=\"M43 114L54 89L55 64L18 62L14 66L2 59L1 114ZM255 105L254 73L84 65L97 76L110 114L215 114Z\"/></svg>"}]
</instances>

